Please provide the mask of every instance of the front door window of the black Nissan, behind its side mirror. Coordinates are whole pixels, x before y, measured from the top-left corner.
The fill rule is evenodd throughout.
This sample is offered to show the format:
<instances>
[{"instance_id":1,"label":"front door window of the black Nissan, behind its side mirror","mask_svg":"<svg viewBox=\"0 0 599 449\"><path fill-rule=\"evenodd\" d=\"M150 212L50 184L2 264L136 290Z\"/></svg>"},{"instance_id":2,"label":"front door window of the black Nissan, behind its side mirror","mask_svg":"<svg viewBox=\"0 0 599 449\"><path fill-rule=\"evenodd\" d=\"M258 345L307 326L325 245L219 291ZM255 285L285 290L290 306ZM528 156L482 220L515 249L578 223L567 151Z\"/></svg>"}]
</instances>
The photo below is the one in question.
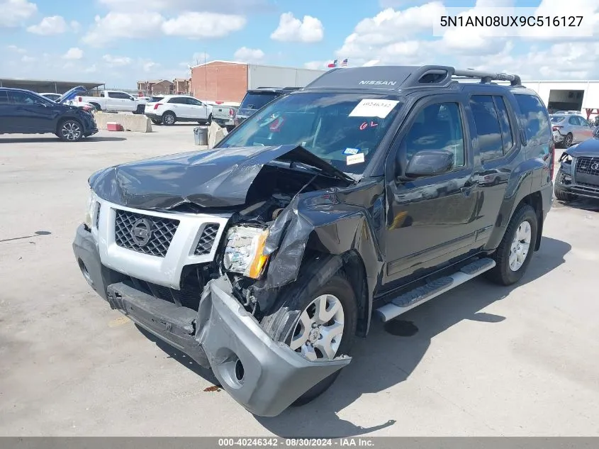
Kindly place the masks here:
<instances>
[{"instance_id":1,"label":"front door window of the black Nissan, behind its side mirror","mask_svg":"<svg viewBox=\"0 0 599 449\"><path fill-rule=\"evenodd\" d=\"M449 150L454 167L463 167L464 131L457 103L430 104L422 109L403 139L406 163L422 150Z\"/></svg>"}]
</instances>

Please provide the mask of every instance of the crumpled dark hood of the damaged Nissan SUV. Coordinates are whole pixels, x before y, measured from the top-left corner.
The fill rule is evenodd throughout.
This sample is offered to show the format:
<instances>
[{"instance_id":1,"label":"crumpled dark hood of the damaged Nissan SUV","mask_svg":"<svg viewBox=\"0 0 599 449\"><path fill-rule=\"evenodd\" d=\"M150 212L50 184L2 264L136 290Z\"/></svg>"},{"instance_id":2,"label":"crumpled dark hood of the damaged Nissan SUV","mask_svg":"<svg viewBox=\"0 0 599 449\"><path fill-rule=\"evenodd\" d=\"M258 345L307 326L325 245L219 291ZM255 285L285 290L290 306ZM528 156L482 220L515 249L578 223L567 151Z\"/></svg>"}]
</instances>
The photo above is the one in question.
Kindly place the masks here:
<instances>
[{"instance_id":1,"label":"crumpled dark hood of the damaged Nissan SUV","mask_svg":"<svg viewBox=\"0 0 599 449\"><path fill-rule=\"evenodd\" d=\"M262 167L273 160L302 162L347 179L328 162L296 145L214 148L129 162L95 172L94 192L106 201L137 209L172 209L245 204Z\"/></svg>"}]
</instances>

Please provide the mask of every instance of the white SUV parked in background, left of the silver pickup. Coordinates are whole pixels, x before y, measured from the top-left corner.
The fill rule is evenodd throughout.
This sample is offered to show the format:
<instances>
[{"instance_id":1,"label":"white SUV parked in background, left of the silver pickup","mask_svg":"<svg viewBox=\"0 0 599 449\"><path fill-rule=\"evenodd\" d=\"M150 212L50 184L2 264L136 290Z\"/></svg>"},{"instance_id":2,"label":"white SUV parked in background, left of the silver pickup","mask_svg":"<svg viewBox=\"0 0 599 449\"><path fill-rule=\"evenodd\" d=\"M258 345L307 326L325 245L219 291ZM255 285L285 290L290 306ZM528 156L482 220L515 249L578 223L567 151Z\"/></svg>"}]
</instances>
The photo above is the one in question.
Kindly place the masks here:
<instances>
[{"instance_id":1,"label":"white SUV parked in background, left of the silver pickup","mask_svg":"<svg viewBox=\"0 0 599 449\"><path fill-rule=\"evenodd\" d=\"M174 125L177 121L207 125L212 121L212 106L189 95L166 95L157 102L148 102L144 113L155 125Z\"/></svg>"}]
</instances>

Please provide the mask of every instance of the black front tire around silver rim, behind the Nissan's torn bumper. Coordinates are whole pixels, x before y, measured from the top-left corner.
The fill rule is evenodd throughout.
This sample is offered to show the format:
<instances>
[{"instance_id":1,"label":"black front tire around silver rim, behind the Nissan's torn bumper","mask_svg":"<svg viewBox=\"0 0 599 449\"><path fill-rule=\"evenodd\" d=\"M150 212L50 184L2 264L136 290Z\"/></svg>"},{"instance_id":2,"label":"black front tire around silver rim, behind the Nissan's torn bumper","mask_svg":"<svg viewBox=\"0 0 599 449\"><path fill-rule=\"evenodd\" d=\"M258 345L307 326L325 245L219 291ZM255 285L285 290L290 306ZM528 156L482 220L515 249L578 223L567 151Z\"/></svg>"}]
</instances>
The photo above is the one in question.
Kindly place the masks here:
<instances>
[{"instance_id":1,"label":"black front tire around silver rim, behind the Nissan's torn bumper","mask_svg":"<svg viewBox=\"0 0 599 449\"><path fill-rule=\"evenodd\" d=\"M274 305L274 313L265 316L261 324L276 341L284 341L287 345L291 345L294 331L297 326L301 326L301 314L306 311L308 306L315 299L318 299L319 296L325 294L335 296L335 299L340 301L344 318L342 338L335 356L342 354L349 355L349 351L352 349L354 343L357 326L356 295L343 272L337 272L337 274L324 283L321 282L317 274L320 267L320 264L306 267L304 275L301 278L298 278L296 282L291 284L289 289L281 290L281 294L279 294L280 299ZM315 353L320 352L318 348L315 348L314 351ZM320 355L324 354L320 352ZM301 406L313 401L313 399L323 394L335 382L339 373L340 371L337 371L318 382L318 384L315 384L314 387L302 394L291 405Z\"/></svg>"}]
</instances>

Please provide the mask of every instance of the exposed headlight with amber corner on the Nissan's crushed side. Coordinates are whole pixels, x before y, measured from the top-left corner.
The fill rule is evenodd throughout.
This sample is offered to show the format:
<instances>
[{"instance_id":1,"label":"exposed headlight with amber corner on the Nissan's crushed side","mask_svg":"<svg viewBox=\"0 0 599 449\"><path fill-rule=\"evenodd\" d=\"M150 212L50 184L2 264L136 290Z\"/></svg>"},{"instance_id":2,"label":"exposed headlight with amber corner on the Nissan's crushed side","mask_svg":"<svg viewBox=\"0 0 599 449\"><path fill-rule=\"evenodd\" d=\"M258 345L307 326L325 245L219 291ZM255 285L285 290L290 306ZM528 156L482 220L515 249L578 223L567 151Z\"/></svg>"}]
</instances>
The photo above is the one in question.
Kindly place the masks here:
<instances>
[{"instance_id":1,"label":"exposed headlight with amber corner on the Nissan's crushed side","mask_svg":"<svg viewBox=\"0 0 599 449\"><path fill-rule=\"evenodd\" d=\"M268 260L268 256L262 254L267 236L268 230L263 228L230 228L223 257L225 270L258 279Z\"/></svg>"}]
</instances>

